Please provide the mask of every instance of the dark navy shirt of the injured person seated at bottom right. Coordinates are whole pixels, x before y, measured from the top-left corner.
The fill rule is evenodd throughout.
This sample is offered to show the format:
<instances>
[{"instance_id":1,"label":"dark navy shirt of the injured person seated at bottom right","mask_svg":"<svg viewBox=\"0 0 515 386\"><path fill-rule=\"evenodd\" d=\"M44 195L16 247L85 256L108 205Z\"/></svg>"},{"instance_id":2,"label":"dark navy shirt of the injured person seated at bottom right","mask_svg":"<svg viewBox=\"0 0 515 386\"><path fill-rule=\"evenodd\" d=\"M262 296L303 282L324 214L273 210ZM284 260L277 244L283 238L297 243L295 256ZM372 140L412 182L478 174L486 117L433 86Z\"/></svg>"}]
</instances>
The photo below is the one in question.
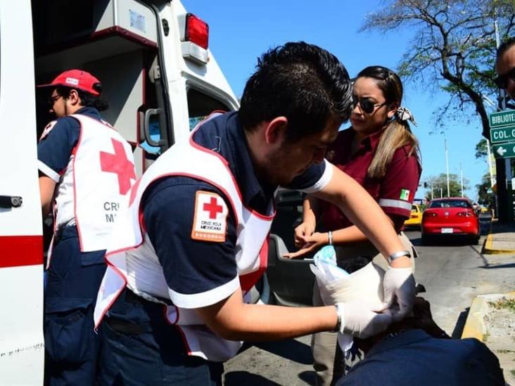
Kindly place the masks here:
<instances>
[{"instance_id":1,"label":"dark navy shirt of the injured person seated at bottom right","mask_svg":"<svg viewBox=\"0 0 515 386\"><path fill-rule=\"evenodd\" d=\"M497 357L476 339L407 330L374 345L337 385L504 386L504 378Z\"/></svg>"}]
</instances>

